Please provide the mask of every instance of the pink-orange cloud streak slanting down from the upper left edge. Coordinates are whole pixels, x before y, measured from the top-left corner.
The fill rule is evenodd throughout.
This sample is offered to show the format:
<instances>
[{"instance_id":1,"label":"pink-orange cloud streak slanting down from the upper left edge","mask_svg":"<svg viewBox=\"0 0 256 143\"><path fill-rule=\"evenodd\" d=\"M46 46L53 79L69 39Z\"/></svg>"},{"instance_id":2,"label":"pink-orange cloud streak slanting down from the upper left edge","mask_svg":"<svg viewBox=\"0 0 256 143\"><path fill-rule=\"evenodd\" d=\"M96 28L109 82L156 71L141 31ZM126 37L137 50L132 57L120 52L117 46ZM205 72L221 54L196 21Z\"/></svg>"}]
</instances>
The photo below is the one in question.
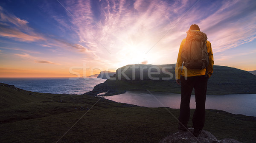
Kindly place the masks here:
<instances>
[{"instance_id":1,"label":"pink-orange cloud streak slanting down from the upper left edge","mask_svg":"<svg viewBox=\"0 0 256 143\"><path fill-rule=\"evenodd\" d=\"M57 20L57 18L55 18ZM21 20L19 17L16 17L13 14L9 14L3 8L0 7L0 36L13 38L17 41L22 42L38 42L38 45L42 47L52 48L52 47L61 47L64 46L66 48L73 48L80 52L89 52L86 47L79 44L71 44L67 42L65 39L56 39L54 36L48 36L47 34L40 34L36 32L33 28L29 27L28 21ZM58 22L61 23L60 20ZM65 25L62 22L62 26ZM67 25L65 25L67 26ZM41 42L43 41L43 42ZM41 44L44 43L44 44ZM12 48L12 50L23 50L29 53L39 53L39 52L32 52L29 50L24 50L20 48Z\"/></svg>"}]
</instances>

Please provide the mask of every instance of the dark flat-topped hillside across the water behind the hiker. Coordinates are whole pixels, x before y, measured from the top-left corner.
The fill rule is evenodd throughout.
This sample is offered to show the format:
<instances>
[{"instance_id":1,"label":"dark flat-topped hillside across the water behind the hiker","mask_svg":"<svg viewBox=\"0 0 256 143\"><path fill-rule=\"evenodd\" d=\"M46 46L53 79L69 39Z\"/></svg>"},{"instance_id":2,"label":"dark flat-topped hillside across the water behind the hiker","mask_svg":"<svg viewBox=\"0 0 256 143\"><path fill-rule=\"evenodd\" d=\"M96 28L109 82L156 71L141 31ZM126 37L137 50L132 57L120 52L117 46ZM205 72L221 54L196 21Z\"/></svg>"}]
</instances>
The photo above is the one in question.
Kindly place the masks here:
<instances>
[{"instance_id":1,"label":"dark flat-topped hillside across the water behind the hiker","mask_svg":"<svg viewBox=\"0 0 256 143\"><path fill-rule=\"evenodd\" d=\"M255 75L237 68L218 65L214 65L213 70L208 81L208 95L256 93ZM180 93L180 85L175 82L175 64L127 65L117 69L113 77L114 80L108 79L96 85L93 91L87 94L96 95L108 91L107 95L114 95L124 93L125 90L140 89Z\"/></svg>"}]
</instances>

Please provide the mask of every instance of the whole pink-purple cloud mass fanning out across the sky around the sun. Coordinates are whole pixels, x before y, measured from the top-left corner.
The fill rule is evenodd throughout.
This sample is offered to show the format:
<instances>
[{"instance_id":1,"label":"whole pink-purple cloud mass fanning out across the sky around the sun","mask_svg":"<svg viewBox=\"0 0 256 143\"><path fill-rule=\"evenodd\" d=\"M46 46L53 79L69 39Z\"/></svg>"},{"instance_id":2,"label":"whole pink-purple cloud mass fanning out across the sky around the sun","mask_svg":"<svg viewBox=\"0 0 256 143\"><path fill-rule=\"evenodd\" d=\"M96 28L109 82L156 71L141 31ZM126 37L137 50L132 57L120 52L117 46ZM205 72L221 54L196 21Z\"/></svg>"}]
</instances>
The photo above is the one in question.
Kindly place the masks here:
<instances>
[{"instance_id":1,"label":"whole pink-purple cloud mass fanning out across the sky around the sun","mask_svg":"<svg viewBox=\"0 0 256 143\"><path fill-rule=\"evenodd\" d=\"M29 27L27 20L3 10L0 35L26 42L43 41L39 45L58 51L60 48L78 51L87 61L140 63L146 57L145 61L150 64L151 61L162 63L177 55L181 40L194 23L207 34L214 53L256 39L253 0L199 1L195 6L197 1L190 0L60 2L64 8L59 3L48 3L44 7L49 17L58 23L56 28L63 32L60 36L39 34Z\"/></svg>"}]
</instances>

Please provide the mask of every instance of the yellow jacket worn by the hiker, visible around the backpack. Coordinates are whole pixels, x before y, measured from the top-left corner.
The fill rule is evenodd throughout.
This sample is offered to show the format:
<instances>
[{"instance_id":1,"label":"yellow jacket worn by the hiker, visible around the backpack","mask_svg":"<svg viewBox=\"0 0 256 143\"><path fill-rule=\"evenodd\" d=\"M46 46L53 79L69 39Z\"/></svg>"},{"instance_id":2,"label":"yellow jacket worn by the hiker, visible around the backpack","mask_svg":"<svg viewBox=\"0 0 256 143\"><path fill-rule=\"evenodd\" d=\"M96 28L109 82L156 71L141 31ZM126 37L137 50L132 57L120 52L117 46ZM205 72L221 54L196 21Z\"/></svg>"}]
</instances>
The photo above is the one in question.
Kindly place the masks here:
<instances>
[{"instance_id":1,"label":"yellow jacket worn by the hiker, visible around the backpack","mask_svg":"<svg viewBox=\"0 0 256 143\"><path fill-rule=\"evenodd\" d=\"M186 77L205 75L206 69L195 70L195 69L187 69L185 66L182 67L183 61L181 59L181 51L182 51L185 41L186 41L186 39L183 39L180 44L180 50L179 50L177 63L176 63L176 67L175 67L175 79L180 79L180 74L182 76L186 76ZM207 70L208 70L208 77L210 77L213 73L214 61L213 61L213 53L212 53L212 44L209 41L206 41L206 42L207 42L206 43L207 52L208 52L208 56L209 56L209 64L208 64Z\"/></svg>"}]
</instances>

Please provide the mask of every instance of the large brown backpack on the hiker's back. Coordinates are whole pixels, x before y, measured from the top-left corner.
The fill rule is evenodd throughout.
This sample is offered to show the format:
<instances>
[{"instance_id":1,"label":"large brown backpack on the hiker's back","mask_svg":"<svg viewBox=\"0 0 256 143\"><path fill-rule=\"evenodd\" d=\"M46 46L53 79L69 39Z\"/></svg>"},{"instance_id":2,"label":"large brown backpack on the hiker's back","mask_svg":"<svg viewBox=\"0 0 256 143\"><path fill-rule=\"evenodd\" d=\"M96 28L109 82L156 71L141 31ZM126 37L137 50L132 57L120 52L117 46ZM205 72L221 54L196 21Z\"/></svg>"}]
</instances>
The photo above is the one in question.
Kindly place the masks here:
<instances>
[{"instance_id":1,"label":"large brown backpack on the hiker's back","mask_svg":"<svg viewBox=\"0 0 256 143\"><path fill-rule=\"evenodd\" d=\"M181 51L183 66L190 69L207 69L209 56L207 53L207 35L201 31L187 31L186 41Z\"/></svg>"}]
</instances>

